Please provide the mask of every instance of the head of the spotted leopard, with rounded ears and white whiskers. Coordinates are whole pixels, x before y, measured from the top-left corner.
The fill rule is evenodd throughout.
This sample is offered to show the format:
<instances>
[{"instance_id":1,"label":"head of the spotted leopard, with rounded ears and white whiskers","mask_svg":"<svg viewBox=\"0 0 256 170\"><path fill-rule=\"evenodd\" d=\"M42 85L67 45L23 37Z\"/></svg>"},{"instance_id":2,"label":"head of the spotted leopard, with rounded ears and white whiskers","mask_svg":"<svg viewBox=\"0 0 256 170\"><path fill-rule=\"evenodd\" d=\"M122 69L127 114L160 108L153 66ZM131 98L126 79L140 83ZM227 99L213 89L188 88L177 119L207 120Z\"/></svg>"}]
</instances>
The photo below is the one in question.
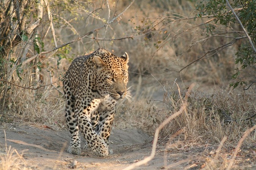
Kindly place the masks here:
<instances>
[{"instance_id":1,"label":"head of the spotted leopard, with rounded ears and white whiskers","mask_svg":"<svg viewBox=\"0 0 256 170\"><path fill-rule=\"evenodd\" d=\"M101 96L110 95L115 100L123 99L124 97L129 99L130 93L127 93L126 88L128 83L128 62L129 56L127 53L121 57L116 57L113 54L93 57L94 68L96 69L97 91Z\"/></svg>"}]
</instances>

